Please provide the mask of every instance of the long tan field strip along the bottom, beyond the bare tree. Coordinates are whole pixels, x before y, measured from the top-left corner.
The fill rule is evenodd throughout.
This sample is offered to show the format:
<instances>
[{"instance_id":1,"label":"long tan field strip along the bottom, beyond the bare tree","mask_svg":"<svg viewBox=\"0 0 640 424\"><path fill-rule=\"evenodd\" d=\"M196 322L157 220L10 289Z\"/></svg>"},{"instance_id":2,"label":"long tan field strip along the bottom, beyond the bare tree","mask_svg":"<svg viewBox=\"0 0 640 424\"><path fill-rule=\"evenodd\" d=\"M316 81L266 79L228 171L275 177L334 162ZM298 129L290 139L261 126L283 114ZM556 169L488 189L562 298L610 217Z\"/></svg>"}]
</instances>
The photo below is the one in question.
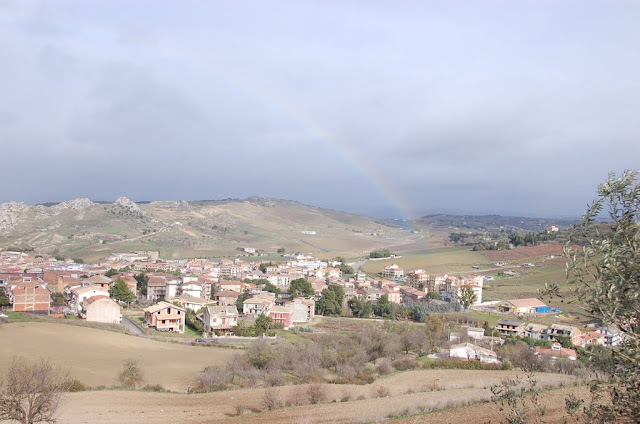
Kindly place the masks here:
<instances>
[{"instance_id":1,"label":"long tan field strip along the bottom, beyond the bare tree","mask_svg":"<svg viewBox=\"0 0 640 424\"><path fill-rule=\"evenodd\" d=\"M489 388L515 371L428 370L397 373L370 385L323 385L326 401L317 405L291 406L271 412L235 416L237 407L264 410L264 389L245 389L207 394L144 393L127 391L96 391L69 393L61 409L62 423L182 423L251 422L251 423L320 423L379 421L404 412L438 410L461 406L468 401L490 399ZM573 377L539 374L541 385L570 384ZM377 388L386 387L390 395L376 398ZM435 391L431 389L436 388ZM286 402L294 390L305 386L275 388L281 402ZM412 393L413 391L413 393ZM340 402L349 393L351 400ZM360 400L356 400L360 398ZM562 398L563 401L564 397ZM487 405L478 405L485 407ZM473 410L473 408L471 408ZM415 411L415 412L414 412ZM497 407L483 411L487 418L496 417ZM439 413L442 414L442 413ZM446 412L445 412L446 414ZM449 412L450 414L450 412ZM437 416L437 414L434 414ZM429 417L432 415L429 414ZM485 415L474 415L483 422ZM451 417L451 415L449 415ZM482 418L482 419L481 419ZM450 419L450 418L449 418ZM424 422L424 421L422 421ZM429 421L430 422L430 421ZM450 422L450 421L439 421Z\"/></svg>"}]
</instances>

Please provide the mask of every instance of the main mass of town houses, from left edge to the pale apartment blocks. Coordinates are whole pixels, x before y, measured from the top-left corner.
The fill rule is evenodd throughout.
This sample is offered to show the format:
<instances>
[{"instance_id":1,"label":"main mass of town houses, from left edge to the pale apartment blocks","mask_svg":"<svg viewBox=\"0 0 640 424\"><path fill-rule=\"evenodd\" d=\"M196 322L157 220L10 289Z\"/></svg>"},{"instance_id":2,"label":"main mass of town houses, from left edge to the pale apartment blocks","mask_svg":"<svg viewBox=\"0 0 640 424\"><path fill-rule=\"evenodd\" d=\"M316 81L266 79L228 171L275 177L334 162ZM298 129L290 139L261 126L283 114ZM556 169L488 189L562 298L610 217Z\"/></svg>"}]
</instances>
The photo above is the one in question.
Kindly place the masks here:
<instances>
[{"instance_id":1,"label":"main mass of town houses, from left edge to the pale apartment blocks","mask_svg":"<svg viewBox=\"0 0 640 424\"><path fill-rule=\"evenodd\" d=\"M450 301L460 295L465 285L473 288L474 303L482 301L483 277L480 276L430 275L424 270L405 275L394 264L385 267L386 278L372 279L358 273L354 278L344 279L339 265L339 262L298 254L288 255L286 260L277 263L261 264L239 258L219 262L161 260L149 252L113 254L101 264L86 265L22 252L0 252L0 283L6 286L15 311L77 314L87 320L116 323L121 318L120 305L109 298L109 288L122 279L141 304L153 305L149 306L154 312L146 324L164 331L184 331L182 321L188 310L206 310L198 318L203 320L207 331L229 332L237 325L238 318L252 319L260 314L289 328L313 319L315 301L330 284L343 287L345 301L363 297L376 302L386 296L396 304L416 303L428 301L429 292L437 292L443 300ZM113 269L127 271L111 275L108 271ZM134 278L141 272L148 277L144 295L138 293ZM299 278L311 283L315 296L290 298L288 287ZM406 284L398 284L399 279ZM264 280L281 293L276 296L264 291L261 284ZM65 304L52 305L52 292L63 293ZM234 310L238 298L246 296L245 293L250 297L242 303L242 310ZM164 309L156 310L158 305L164 305ZM165 318L159 319L160 316Z\"/></svg>"}]
</instances>

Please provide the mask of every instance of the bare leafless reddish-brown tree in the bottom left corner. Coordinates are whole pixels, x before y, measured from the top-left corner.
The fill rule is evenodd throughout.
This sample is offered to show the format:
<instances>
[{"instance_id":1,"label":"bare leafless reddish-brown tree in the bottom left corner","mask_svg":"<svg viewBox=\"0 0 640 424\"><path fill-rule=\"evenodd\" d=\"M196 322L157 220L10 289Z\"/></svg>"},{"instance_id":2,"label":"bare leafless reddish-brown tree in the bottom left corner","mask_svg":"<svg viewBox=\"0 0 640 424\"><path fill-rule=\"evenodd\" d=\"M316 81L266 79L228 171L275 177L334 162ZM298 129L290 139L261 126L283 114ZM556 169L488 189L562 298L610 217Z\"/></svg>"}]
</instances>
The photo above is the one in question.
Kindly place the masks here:
<instances>
[{"instance_id":1,"label":"bare leafless reddish-brown tree in the bottom left corner","mask_svg":"<svg viewBox=\"0 0 640 424\"><path fill-rule=\"evenodd\" d=\"M47 360L30 363L14 358L0 379L0 421L54 423L66 373Z\"/></svg>"}]
</instances>

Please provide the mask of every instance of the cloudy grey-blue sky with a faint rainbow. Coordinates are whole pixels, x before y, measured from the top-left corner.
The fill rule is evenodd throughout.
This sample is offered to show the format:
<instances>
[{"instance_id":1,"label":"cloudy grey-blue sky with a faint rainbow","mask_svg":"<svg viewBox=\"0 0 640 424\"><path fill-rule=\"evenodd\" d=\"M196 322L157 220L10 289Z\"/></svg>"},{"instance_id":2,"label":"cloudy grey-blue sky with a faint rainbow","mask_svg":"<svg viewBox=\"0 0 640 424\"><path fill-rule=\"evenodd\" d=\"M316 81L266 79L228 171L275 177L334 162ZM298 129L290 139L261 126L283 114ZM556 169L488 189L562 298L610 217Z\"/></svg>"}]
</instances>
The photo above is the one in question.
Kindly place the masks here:
<instances>
[{"instance_id":1,"label":"cloudy grey-blue sky with a faint rainbow","mask_svg":"<svg viewBox=\"0 0 640 424\"><path fill-rule=\"evenodd\" d=\"M640 168L638 1L0 0L0 202L580 216Z\"/></svg>"}]
</instances>

